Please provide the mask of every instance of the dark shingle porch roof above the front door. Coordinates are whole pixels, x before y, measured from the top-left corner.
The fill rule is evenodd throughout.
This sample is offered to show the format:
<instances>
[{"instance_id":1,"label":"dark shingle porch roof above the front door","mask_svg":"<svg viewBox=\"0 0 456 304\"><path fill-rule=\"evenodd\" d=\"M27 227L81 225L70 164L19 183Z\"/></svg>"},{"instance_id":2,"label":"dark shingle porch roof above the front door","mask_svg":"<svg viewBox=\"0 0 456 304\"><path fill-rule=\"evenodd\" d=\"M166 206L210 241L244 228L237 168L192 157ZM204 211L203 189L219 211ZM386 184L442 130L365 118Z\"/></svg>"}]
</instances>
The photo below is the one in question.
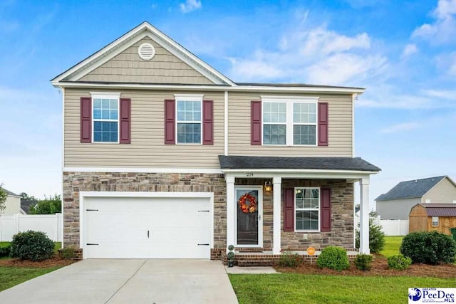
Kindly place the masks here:
<instances>
[{"instance_id":1,"label":"dark shingle porch roof above the front door","mask_svg":"<svg viewBox=\"0 0 456 304\"><path fill-rule=\"evenodd\" d=\"M256 157L219 155L222 169L328 169L378 172L360 157Z\"/></svg>"}]
</instances>

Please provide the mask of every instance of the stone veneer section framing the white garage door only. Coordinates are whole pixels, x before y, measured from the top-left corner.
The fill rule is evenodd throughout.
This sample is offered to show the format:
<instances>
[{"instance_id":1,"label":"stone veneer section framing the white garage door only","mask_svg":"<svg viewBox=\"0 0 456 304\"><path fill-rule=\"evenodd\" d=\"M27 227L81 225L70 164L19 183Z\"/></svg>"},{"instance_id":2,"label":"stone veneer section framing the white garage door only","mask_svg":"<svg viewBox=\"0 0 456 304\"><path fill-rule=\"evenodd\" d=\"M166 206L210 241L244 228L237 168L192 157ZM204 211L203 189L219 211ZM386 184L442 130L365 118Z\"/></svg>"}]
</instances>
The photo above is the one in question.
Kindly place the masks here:
<instances>
[{"instance_id":1,"label":"stone veneer section framing the white garage door only","mask_svg":"<svg viewBox=\"0 0 456 304\"><path fill-rule=\"evenodd\" d=\"M63 243L79 247L79 192L213 192L214 248L227 247L223 174L63 172Z\"/></svg>"}]
</instances>

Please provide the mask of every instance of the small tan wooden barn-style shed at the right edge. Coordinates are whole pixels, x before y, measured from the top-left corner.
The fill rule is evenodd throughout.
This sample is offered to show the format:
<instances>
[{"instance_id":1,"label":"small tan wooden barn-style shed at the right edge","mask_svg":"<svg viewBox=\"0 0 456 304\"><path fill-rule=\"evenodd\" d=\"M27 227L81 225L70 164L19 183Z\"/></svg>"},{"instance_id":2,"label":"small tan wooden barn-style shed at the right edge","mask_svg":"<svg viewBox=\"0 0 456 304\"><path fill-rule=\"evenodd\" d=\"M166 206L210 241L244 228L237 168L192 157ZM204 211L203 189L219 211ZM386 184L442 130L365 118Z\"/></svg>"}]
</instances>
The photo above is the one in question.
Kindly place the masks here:
<instances>
[{"instance_id":1,"label":"small tan wooden barn-style shed at the right edge","mask_svg":"<svg viewBox=\"0 0 456 304\"><path fill-rule=\"evenodd\" d=\"M409 231L449 234L456 228L456 204L417 204L410 211Z\"/></svg>"}]
</instances>

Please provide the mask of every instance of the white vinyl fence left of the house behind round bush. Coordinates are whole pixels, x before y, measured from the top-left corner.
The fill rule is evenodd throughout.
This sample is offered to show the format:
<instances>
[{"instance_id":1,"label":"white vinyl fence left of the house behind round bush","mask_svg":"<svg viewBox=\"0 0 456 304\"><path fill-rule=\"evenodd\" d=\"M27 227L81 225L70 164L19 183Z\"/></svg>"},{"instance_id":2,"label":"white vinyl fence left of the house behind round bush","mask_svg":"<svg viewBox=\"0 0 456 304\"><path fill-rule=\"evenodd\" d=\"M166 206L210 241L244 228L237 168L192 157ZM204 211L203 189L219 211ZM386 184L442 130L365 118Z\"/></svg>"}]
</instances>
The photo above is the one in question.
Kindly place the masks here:
<instances>
[{"instance_id":1,"label":"white vinyl fence left of the house behind round bush","mask_svg":"<svg viewBox=\"0 0 456 304\"><path fill-rule=\"evenodd\" d=\"M27 230L46 232L49 239L61 242L62 214L0 216L0 241L11 241L14 234Z\"/></svg>"}]
</instances>

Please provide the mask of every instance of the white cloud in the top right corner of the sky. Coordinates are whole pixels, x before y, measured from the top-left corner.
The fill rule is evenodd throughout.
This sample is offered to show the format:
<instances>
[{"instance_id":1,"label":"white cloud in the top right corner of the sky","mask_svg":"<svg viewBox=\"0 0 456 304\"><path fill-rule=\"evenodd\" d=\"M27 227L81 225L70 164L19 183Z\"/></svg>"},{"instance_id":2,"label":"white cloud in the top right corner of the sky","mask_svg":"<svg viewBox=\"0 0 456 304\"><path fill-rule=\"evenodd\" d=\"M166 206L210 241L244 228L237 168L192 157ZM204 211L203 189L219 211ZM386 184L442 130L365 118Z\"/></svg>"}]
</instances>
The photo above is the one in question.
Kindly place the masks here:
<instances>
[{"instance_id":1,"label":"white cloud in the top right corner of the sky","mask_svg":"<svg viewBox=\"0 0 456 304\"><path fill-rule=\"evenodd\" d=\"M415 28L413 38L424 38L433 44L454 43L456 35L456 0L439 0L432 11L434 23L425 23Z\"/></svg>"}]
</instances>

